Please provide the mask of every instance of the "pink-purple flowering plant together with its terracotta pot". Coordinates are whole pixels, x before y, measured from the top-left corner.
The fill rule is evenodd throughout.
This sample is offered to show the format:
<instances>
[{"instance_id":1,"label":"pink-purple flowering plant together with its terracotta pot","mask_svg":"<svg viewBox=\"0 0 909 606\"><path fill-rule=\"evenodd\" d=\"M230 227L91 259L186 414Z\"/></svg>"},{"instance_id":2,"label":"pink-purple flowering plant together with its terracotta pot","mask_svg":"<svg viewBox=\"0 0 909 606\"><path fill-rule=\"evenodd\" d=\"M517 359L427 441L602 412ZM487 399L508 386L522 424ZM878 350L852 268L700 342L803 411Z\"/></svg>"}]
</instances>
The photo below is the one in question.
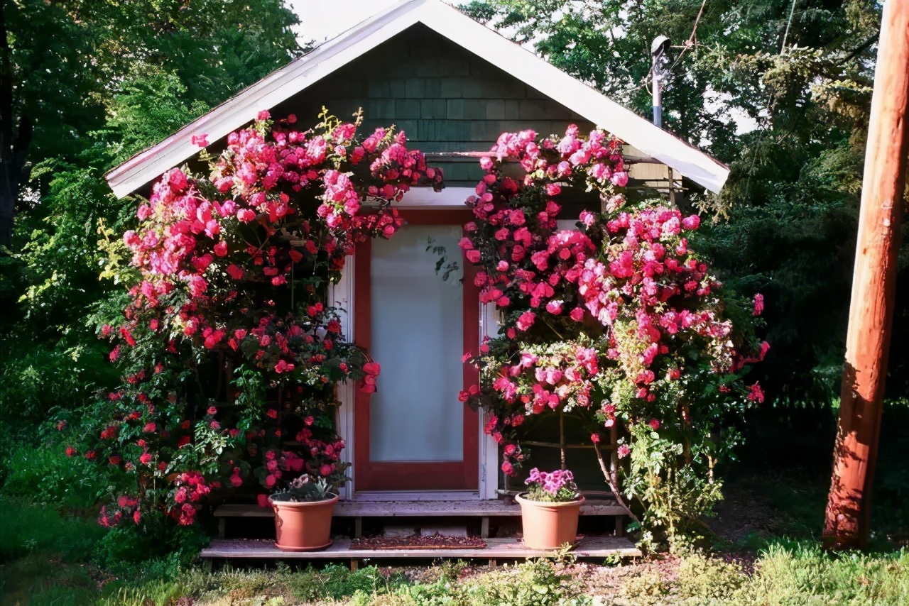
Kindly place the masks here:
<instances>
[{"instance_id":1,"label":"pink-purple flowering plant together with its terracotta pot","mask_svg":"<svg viewBox=\"0 0 909 606\"><path fill-rule=\"evenodd\" d=\"M584 495L578 491L572 472L546 473L534 467L524 483L528 491L514 497L521 505L524 545L551 550L574 543Z\"/></svg>"}]
</instances>

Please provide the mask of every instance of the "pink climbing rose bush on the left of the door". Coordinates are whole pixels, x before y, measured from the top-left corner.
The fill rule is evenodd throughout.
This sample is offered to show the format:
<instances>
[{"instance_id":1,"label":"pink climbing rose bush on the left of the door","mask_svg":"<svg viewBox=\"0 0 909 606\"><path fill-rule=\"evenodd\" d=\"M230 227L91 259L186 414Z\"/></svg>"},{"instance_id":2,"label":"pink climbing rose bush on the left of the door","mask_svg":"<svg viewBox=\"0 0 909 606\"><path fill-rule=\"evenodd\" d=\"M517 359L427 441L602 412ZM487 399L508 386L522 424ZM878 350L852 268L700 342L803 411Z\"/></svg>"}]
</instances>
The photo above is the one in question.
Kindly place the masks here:
<instances>
[{"instance_id":1,"label":"pink climbing rose bush on the left of the door","mask_svg":"<svg viewBox=\"0 0 909 606\"><path fill-rule=\"evenodd\" d=\"M442 174L404 132L325 112L311 130L267 112L227 135L209 174L167 171L138 206L106 273L126 285L99 336L125 371L67 454L113 465L130 493L100 522L149 508L180 524L212 493L274 490L305 472L343 482L335 384L375 391L379 364L325 304L345 256L403 223L392 203ZM194 136L205 145L204 136ZM123 263L116 263L123 259Z\"/></svg>"}]
</instances>

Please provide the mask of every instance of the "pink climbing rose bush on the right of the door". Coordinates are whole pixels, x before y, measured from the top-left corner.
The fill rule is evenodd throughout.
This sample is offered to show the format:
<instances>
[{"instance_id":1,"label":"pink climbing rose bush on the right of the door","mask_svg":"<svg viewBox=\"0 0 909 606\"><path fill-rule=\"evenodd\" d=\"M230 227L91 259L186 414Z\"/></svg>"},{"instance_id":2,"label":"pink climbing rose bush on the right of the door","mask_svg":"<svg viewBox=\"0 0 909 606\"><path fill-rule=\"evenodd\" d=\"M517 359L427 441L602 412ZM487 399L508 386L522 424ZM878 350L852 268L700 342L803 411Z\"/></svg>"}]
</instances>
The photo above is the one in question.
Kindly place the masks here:
<instances>
[{"instance_id":1,"label":"pink climbing rose bush on the right of the door","mask_svg":"<svg viewBox=\"0 0 909 606\"><path fill-rule=\"evenodd\" d=\"M621 144L603 132L506 133L480 165L461 248L502 323L466 356L481 381L461 400L488 412L502 471L526 462L527 416L574 414L645 541L696 533L721 498L714 469L739 441L729 419L764 398L740 381L769 347L752 331L760 295L754 311L724 303L689 247L698 216L663 200L629 204ZM598 198L574 229L558 225L565 192Z\"/></svg>"}]
</instances>

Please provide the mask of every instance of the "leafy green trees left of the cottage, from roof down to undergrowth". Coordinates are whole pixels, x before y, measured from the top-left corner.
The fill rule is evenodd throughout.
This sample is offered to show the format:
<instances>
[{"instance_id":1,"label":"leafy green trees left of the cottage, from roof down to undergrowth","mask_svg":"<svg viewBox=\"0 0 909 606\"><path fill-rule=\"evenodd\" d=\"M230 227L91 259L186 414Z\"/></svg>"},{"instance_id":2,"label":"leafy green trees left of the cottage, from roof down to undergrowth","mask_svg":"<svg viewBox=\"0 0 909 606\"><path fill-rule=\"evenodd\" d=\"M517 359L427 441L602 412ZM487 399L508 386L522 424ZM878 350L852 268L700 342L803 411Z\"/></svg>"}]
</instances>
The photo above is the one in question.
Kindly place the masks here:
<instances>
[{"instance_id":1,"label":"leafy green trees left of the cottage, from roof down to undergrowth","mask_svg":"<svg viewBox=\"0 0 909 606\"><path fill-rule=\"evenodd\" d=\"M32 134L27 146L19 139L24 167L5 182L2 201L13 231L0 253L0 307L17 313L0 318L0 412L15 429L116 379L88 370L104 369L106 352L86 317L116 291L97 279L98 230L129 215L105 172L299 47L295 16L279 0L17 0L3 8L3 90L11 94L0 122L14 139L19 124ZM12 145L4 149L12 157ZM52 375L59 381L34 380Z\"/></svg>"}]
</instances>

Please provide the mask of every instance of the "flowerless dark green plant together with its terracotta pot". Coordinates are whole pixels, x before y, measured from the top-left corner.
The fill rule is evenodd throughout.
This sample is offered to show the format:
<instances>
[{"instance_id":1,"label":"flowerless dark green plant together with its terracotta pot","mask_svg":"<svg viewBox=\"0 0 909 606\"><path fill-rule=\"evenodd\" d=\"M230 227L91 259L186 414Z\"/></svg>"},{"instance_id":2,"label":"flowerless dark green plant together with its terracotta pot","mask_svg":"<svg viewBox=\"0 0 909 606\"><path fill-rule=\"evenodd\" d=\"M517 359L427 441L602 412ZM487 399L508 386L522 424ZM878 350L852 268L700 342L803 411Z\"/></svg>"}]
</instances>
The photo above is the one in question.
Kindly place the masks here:
<instances>
[{"instance_id":1,"label":"flowerless dark green plant together with its terracotta pot","mask_svg":"<svg viewBox=\"0 0 909 606\"><path fill-rule=\"evenodd\" d=\"M275 510L275 547L281 551L318 551L332 544L332 513L338 495L325 478L303 474L268 499Z\"/></svg>"}]
</instances>

